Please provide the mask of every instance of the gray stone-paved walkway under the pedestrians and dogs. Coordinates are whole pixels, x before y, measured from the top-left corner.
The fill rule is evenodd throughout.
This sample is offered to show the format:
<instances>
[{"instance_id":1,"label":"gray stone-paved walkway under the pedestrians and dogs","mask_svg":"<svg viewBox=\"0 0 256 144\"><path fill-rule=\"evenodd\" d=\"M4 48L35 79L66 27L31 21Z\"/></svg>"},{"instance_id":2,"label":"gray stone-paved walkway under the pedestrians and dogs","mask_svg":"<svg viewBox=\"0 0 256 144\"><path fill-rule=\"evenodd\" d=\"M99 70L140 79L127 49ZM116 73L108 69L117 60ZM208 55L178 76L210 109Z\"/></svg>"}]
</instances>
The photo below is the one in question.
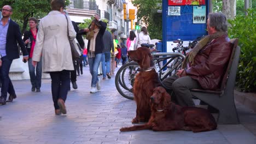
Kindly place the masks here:
<instances>
[{"instance_id":1,"label":"gray stone-paved walkway under the pedestrians and dogs","mask_svg":"<svg viewBox=\"0 0 256 144\"><path fill-rule=\"evenodd\" d=\"M119 65L120 67L120 65ZM84 67L78 89L68 93L67 115L56 116L51 100L50 79L42 81L39 93L31 92L29 80L13 81L18 98L0 105L0 143L256 143L256 115L236 103L241 124L218 125L203 133L191 131L120 132L132 125L136 105L117 92L114 77L102 81L100 92L90 94L91 76Z\"/></svg>"}]
</instances>

